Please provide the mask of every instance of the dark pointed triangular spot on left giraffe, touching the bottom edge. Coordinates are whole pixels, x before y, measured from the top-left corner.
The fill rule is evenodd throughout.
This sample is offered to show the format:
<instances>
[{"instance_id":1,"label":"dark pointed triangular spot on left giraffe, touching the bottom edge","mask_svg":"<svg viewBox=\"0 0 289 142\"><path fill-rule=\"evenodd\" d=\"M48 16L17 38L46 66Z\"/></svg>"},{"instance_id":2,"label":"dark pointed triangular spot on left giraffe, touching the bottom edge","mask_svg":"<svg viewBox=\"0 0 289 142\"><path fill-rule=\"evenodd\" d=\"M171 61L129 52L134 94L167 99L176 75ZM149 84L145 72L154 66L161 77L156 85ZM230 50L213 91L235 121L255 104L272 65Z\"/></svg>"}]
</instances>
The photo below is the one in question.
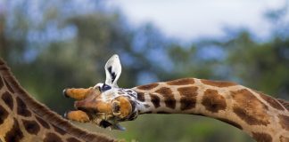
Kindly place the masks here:
<instances>
[{"instance_id":1,"label":"dark pointed triangular spot on left giraffe, touching the bottom edge","mask_svg":"<svg viewBox=\"0 0 289 142\"><path fill-rule=\"evenodd\" d=\"M19 127L19 123L14 118L12 129L6 133L4 139L6 142L19 142L23 137L24 136Z\"/></svg>"}]
</instances>

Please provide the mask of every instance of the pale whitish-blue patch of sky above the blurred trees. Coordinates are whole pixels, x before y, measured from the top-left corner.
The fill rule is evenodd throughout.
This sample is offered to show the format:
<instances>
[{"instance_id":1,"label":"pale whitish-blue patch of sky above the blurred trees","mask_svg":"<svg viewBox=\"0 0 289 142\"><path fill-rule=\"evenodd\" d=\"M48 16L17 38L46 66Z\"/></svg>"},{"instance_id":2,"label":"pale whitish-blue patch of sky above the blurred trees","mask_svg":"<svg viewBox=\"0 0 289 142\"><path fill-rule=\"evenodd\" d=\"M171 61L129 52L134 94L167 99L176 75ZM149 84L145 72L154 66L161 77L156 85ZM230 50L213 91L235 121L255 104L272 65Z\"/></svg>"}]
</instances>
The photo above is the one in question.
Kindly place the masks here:
<instances>
[{"instance_id":1,"label":"pale whitish-blue patch of sky above the blurred trees","mask_svg":"<svg viewBox=\"0 0 289 142\"><path fill-rule=\"evenodd\" d=\"M224 36L224 28L248 28L267 38L272 25L264 13L282 7L285 0L110 0L133 25L151 22L181 40Z\"/></svg>"}]
</instances>

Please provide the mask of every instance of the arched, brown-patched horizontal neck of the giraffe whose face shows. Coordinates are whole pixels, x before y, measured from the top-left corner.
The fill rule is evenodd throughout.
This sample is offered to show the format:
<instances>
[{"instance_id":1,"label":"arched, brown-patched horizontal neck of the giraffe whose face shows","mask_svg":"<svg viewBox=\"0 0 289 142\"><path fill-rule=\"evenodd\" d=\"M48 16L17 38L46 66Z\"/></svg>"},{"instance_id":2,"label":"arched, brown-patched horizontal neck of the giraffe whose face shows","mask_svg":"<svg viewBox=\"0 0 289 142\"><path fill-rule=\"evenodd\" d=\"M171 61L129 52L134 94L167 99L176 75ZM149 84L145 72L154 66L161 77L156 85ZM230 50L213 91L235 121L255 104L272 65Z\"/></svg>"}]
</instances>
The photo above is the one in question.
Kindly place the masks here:
<instances>
[{"instance_id":1,"label":"arched, brown-patched horizontal neck of the giraffe whose face shows","mask_svg":"<svg viewBox=\"0 0 289 142\"><path fill-rule=\"evenodd\" d=\"M199 114L227 122L257 141L289 141L287 102L236 83L186 78L133 90L139 114Z\"/></svg>"}]
</instances>

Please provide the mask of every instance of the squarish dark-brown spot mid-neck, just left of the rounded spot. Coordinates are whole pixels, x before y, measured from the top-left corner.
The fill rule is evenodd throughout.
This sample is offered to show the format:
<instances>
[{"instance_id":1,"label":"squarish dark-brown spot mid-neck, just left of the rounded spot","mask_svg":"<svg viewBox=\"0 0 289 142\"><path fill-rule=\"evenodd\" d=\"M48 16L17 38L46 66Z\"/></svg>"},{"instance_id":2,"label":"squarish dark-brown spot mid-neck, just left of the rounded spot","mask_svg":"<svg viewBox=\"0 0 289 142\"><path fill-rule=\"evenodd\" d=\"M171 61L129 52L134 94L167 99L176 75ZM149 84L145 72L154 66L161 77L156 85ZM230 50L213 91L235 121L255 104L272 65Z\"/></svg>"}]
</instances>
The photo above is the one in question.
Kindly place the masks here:
<instances>
[{"instance_id":1,"label":"squarish dark-brown spot mid-neck, just left of the rounded spot","mask_svg":"<svg viewBox=\"0 0 289 142\"><path fill-rule=\"evenodd\" d=\"M194 108L196 103L197 90L198 88L194 86L178 88L178 92L181 95L181 110Z\"/></svg>"}]
</instances>

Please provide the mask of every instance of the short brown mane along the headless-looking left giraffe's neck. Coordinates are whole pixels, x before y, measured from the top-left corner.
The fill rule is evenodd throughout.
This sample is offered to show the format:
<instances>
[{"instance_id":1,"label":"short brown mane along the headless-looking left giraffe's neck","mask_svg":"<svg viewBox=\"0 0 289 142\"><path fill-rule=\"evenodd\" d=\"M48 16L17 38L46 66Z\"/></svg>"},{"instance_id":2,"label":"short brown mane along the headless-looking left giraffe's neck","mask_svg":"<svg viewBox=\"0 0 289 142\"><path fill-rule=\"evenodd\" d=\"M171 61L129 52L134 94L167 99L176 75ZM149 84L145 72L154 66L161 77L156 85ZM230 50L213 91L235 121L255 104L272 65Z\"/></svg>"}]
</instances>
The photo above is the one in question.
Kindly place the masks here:
<instances>
[{"instance_id":1,"label":"short brown mane along the headless-looking left giraffe's neck","mask_svg":"<svg viewBox=\"0 0 289 142\"><path fill-rule=\"evenodd\" d=\"M69 121L65 120L59 114L56 114L54 111L50 110L44 104L41 104L36 99L33 99L27 91L25 91L17 79L12 75L10 68L5 64L4 60L0 58L0 72L3 75L7 83L9 83L12 91L17 94L18 97L23 99L27 106L31 110L41 116L45 121L54 124L54 126L59 127L62 130L74 135L78 138L82 138L86 141L115 141L112 138L104 136L100 133L91 133L87 130L81 130L71 124ZM1 140L0 140L1 141Z\"/></svg>"}]
</instances>

